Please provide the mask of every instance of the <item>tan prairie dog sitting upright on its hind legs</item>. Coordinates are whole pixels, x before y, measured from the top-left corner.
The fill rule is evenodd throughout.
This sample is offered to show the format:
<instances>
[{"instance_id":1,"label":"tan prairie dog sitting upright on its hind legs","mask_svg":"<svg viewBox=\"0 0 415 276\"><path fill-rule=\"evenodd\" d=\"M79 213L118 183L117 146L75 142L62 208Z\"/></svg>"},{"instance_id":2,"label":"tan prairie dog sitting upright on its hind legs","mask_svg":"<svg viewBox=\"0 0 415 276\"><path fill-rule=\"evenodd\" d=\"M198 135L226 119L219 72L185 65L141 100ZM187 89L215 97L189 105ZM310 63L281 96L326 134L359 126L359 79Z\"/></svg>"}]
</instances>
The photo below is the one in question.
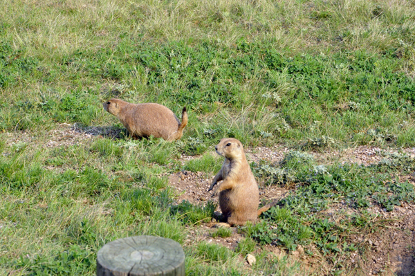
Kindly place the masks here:
<instances>
[{"instance_id":1,"label":"tan prairie dog sitting upright on its hind legs","mask_svg":"<svg viewBox=\"0 0 415 276\"><path fill-rule=\"evenodd\" d=\"M225 157L221 170L214 176L212 190L218 181L214 194L219 194L219 206L230 226L243 226L246 221L255 222L258 216L277 203L274 201L258 210L259 190L257 181L246 160L243 146L234 138L223 138L215 147L216 153Z\"/></svg>"}]
</instances>

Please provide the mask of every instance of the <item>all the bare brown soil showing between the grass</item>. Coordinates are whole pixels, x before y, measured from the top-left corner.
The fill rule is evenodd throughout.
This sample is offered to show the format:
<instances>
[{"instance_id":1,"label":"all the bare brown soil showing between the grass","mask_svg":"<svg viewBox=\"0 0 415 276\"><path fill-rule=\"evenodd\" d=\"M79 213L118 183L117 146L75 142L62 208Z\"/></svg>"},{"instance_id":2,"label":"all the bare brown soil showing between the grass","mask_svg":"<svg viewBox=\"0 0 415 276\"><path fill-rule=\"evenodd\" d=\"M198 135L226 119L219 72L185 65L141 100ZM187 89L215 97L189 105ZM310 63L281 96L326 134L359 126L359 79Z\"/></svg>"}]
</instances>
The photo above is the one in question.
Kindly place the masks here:
<instances>
[{"instance_id":1,"label":"all the bare brown soil showing between the grass","mask_svg":"<svg viewBox=\"0 0 415 276\"><path fill-rule=\"evenodd\" d=\"M45 131L44 136L48 137L47 142L44 137L37 138L28 132L6 133L6 143L8 145L19 145L21 143L39 144L40 147L60 147L62 145L76 145L80 142L90 142L95 138L102 136L110 138L120 138L124 135L122 129L112 127L89 127L80 129L77 125L61 124L59 129ZM246 149L248 162L258 162L259 160L268 160L276 163L284 158L284 154L290 149L284 145L276 145L275 147L256 147L255 149ZM415 147L405 149L380 149L378 147L360 146L351 149L342 149L340 151L323 151L309 152L315 156L319 163L331 164L340 163L358 163L362 165L371 165L378 163L384 158L381 152L405 152L411 156L415 156ZM3 153L7 154L7 153ZM214 151L212 151L214 154ZM181 156L181 163L187 162L200 156ZM183 200L190 201L194 204L205 204L207 201L217 202L217 198L212 198L212 192L208 192L208 187L212 181L212 175L203 172L182 171L169 175L169 185L176 190L176 203ZM401 178L415 185L415 173ZM260 186L261 204L273 201L273 199L282 199L288 190L282 187L263 187ZM260 205L261 205L260 204ZM325 213L335 219L335 216L344 210L342 206L332 206ZM349 239L355 243L363 243L366 252L353 252L343 261L349 268L356 268L349 275L415 275L415 205L403 203L397 206L392 212L385 212L380 208L371 208L369 212L378 215L378 218L388 221L387 227L379 228L377 232L367 234L365 236L355 234ZM219 207L216 208L216 214L219 216ZM192 245L199 241L219 243L230 249L237 247L238 242L243 239L243 235L237 232L237 228L232 228L232 236L228 238L212 237L212 232L216 231L216 220L210 223L203 223L201 226L192 226L185 241L185 245ZM307 249L315 254L313 257L304 254ZM282 257L286 255L283 248L277 246L264 246L258 249L256 254L261 250L269 251L270 254ZM330 275L330 268L335 264L324 261L324 257L313 246L308 248L297 248L294 252L289 253L292 259L297 259L304 264L304 268L311 272L323 271L324 274ZM321 274L320 274L321 275Z\"/></svg>"}]
</instances>

